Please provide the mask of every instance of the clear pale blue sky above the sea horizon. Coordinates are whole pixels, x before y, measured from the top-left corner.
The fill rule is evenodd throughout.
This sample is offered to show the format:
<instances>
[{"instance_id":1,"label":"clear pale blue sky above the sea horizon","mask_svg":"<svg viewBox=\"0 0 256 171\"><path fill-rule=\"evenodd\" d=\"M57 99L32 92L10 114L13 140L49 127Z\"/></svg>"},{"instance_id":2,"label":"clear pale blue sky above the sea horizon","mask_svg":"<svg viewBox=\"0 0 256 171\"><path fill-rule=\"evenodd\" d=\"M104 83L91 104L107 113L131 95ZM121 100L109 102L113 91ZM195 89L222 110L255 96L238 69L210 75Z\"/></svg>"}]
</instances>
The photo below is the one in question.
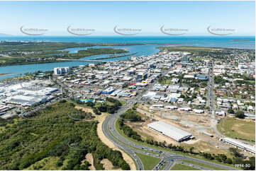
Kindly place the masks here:
<instances>
[{"instance_id":1,"label":"clear pale blue sky above the sea horizon","mask_svg":"<svg viewBox=\"0 0 256 171\"><path fill-rule=\"evenodd\" d=\"M45 29L26 30L45 35L72 35L68 26L91 35L116 35L115 26L138 35L164 35L162 26L184 35L211 35L209 26L255 35L255 1L0 1L0 18L0 33L10 35L24 35L21 26Z\"/></svg>"}]
</instances>

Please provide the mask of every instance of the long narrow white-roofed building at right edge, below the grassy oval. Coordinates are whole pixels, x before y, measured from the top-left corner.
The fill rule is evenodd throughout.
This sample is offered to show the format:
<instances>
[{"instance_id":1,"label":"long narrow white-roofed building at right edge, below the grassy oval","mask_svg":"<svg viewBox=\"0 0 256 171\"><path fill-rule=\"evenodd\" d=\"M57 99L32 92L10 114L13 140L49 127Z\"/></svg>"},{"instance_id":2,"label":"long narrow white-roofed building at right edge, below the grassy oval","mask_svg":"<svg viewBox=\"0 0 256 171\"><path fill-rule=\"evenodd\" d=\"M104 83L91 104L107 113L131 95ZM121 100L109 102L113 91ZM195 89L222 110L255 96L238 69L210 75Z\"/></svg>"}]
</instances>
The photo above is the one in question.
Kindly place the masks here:
<instances>
[{"instance_id":1,"label":"long narrow white-roofed building at right edge, below the grassy oval","mask_svg":"<svg viewBox=\"0 0 256 171\"><path fill-rule=\"evenodd\" d=\"M223 143L228 143L231 146L235 146L237 148L240 148L243 151L247 151L249 153L255 154L255 147L247 145L246 143L242 143L240 141L236 141L233 138L220 138L220 141L222 141Z\"/></svg>"}]
</instances>

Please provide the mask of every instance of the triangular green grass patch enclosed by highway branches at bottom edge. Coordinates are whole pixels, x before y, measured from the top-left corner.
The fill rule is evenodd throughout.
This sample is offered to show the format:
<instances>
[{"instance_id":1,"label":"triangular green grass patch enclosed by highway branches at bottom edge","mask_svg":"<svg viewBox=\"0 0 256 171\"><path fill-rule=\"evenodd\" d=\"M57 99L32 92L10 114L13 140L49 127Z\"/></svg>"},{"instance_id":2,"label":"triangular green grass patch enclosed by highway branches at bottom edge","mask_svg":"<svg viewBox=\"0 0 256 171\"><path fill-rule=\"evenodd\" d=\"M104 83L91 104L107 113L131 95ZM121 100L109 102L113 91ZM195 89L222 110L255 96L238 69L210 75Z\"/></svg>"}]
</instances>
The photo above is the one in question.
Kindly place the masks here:
<instances>
[{"instance_id":1,"label":"triangular green grass patch enclosed by highway branches at bottom edge","mask_svg":"<svg viewBox=\"0 0 256 171\"><path fill-rule=\"evenodd\" d=\"M136 153L136 152L135 152ZM136 153L144 165L144 170L152 170L157 163L160 163L160 158L153 158L148 155Z\"/></svg>"}]
</instances>

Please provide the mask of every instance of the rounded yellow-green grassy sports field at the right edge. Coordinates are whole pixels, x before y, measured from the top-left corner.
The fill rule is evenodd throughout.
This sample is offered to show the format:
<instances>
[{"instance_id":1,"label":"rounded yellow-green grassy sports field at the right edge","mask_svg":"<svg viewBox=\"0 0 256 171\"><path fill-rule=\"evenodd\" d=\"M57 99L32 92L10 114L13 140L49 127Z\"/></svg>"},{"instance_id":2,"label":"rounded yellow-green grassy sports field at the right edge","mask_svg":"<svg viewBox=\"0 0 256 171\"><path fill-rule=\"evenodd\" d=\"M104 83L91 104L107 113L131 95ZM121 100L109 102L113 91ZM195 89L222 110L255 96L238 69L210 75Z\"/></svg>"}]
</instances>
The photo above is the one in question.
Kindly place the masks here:
<instances>
[{"instance_id":1,"label":"rounded yellow-green grassy sports field at the right edge","mask_svg":"<svg viewBox=\"0 0 256 171\"><path fill-rule=\"evenodd\" d=\"M217 126L218 131L230 138L245 138L255 141L255 122L247 122L242 119L221 119Z\"/></svg>"}]
</instances>

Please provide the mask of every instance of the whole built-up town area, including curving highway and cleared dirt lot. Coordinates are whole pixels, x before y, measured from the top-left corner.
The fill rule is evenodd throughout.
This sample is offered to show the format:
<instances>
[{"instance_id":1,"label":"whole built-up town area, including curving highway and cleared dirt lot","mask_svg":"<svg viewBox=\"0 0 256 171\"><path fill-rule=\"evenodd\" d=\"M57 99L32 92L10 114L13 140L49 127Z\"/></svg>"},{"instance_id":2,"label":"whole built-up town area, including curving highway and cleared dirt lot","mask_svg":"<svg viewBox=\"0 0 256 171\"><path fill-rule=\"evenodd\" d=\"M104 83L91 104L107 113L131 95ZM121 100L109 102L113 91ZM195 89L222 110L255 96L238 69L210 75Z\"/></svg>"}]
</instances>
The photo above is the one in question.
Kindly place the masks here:
<instances>
[{"instance_id":1,"label":"whole built-up town area, including curving highway and cleared dirt lot","mask_svg":"<svg viewBox=\"0 0 256 171\"><path fill-rule=\"evenodd\" d=\"M199 170L233 170L232 155L255 156L255 131L247 131L255 125L253 53L213 49L203 55L165 47L149 56L38 71L1 81L0 114L33 120L36 112L65 100L94 119L110 114L101 123L102 136L133 156L138 170L145 170L140 155L159 159L150 170L169 170L181 161ZM245 127L245 135L236 124Z\"/></svg>"}]
</instances>

